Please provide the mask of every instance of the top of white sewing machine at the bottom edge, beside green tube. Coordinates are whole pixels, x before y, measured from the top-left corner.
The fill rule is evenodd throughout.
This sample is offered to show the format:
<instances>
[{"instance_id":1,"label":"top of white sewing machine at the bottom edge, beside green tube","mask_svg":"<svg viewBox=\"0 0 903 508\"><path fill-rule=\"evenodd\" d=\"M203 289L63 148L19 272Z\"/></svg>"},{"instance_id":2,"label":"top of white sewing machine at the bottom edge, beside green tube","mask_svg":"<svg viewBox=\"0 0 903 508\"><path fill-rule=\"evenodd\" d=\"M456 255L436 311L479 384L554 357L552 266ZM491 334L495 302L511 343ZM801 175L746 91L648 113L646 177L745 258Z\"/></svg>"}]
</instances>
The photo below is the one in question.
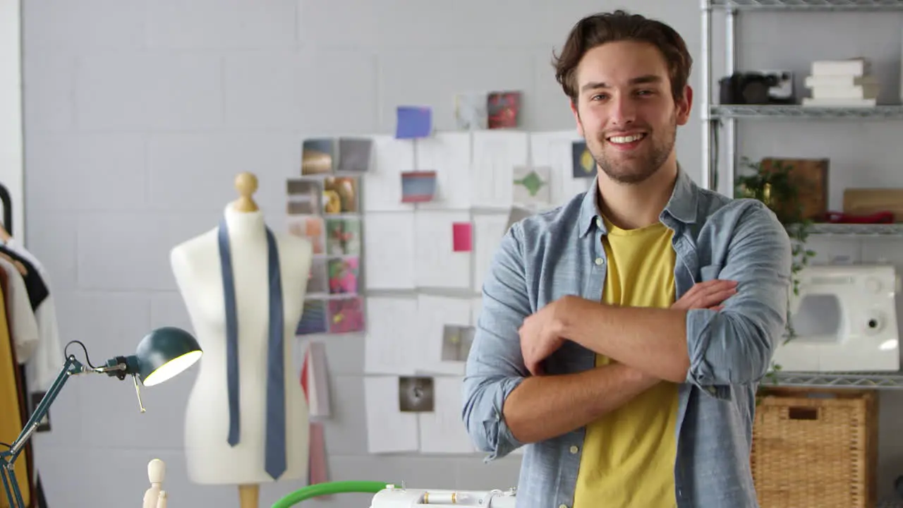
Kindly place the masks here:
<instances>
[{"instance_id":1,"label":"top of white sewing machine at the bottom edge, beside green tube","mask_svg":"<svg viewBox=\"0 0 903 508\"><path fill-rule=\"evenodd\" d=\"M480 508L514 508L517 490L455 491L440 489L410 489L396 485L386 488L373 496L370 508L412 508L414 506L455 505L479 506Z\"/></svg>"}]
</instances>

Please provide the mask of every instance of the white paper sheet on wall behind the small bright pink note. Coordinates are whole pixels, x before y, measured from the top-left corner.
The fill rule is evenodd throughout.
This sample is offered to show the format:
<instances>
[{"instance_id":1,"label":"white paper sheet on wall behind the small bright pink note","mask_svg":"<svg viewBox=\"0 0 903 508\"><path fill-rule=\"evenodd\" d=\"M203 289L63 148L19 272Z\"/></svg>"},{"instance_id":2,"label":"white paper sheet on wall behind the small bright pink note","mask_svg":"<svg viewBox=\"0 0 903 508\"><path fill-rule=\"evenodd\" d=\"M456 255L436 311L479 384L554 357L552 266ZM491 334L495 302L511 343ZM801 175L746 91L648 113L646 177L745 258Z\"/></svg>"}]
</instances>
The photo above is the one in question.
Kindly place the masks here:
<instances>
[{"instance_id":1,"label":"white paper sheet on wall behind the small bright pink note","mask_svg":"<svg viewBox=\"0 0 903 508\"><path fill-rule=\"evenodd\" d=\"M472 256L470 252L454 251L452 225L455 222L470 222L470 212L414 212L417 287L470 289ZM400 253L402 248L396 249Z\"/></svg>"}]
</instances>

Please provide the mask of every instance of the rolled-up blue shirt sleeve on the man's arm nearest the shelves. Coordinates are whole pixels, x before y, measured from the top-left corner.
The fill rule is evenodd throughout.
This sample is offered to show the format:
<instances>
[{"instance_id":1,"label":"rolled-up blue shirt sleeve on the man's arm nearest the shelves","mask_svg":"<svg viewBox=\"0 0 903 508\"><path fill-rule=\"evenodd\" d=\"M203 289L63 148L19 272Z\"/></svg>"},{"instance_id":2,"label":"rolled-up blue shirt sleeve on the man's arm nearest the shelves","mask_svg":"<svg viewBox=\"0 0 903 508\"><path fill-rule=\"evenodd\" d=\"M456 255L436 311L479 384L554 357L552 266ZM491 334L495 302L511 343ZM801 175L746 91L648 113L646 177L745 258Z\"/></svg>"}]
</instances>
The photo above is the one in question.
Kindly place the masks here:
<instances>
[{"instance_id":1,"label":"rolled-up blue shirt sleeve on the man's arm nearest the shelves","mask_svg":"<svg viewBox=\"0 0 903 508\"><path fill-rule=\"evenodd\" d=\"M703 279L737 281L737 293L721 311L687 313L687 382L728 398L726 385L765 376L787 325L792 262L787 230L773 212L754 205L740 214L723 266L703 272Z\"/></svg>"}]
</instances>

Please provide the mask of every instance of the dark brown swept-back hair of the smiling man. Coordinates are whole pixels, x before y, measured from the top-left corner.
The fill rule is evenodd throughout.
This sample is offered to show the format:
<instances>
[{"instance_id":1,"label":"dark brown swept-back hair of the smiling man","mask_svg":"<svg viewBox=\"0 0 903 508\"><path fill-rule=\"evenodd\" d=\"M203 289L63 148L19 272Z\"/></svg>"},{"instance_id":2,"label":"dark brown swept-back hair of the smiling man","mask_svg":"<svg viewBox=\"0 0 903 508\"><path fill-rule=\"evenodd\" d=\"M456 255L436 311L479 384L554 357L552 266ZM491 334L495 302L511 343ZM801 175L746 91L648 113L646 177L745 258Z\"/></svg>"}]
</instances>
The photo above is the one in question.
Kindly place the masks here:
<instances>
[{"instance_id":1,"label":"dark brown swept-back hair of the smiling man","mask_svg":"<svg viewBox=\"0 0 903 508\"><path fill-rule=\"evenodd\" d=\"M577 22L564 42L560 55L554 55L555 79L564 93L577 103L577 65L586 52L606 42L648 42L665 57L671 94L675 101L684 98L684 87L693 67L693 58L684 38L671 26L641 14L623 10L592 14ZM554 54L554 53L553 53Z\"/></svg>"}]
</instances>

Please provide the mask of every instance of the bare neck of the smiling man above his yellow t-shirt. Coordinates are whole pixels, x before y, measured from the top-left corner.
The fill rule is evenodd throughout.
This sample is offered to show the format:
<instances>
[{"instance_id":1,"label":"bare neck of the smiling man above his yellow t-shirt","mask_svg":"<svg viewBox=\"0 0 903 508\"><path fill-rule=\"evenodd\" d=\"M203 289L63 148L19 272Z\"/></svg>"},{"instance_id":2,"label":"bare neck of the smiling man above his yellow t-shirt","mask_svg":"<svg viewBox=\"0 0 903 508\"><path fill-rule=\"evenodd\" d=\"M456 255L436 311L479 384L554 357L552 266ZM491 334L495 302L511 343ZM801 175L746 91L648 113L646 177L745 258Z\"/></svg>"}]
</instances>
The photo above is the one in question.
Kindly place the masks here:
<instances>
[{"instance_id":1,"label":"bare neck of the smiling man above his yellow t-shirt","mask_svg":"<svg viewBox=\"0 0 903 508\"><path fill-rule=\"evenodd\" d=\"M619 183L599 172L599 208L611 223L635 230L658 222L675 188L677 163L668 160L647 180Z\"/></svg>"}]
</instances>

